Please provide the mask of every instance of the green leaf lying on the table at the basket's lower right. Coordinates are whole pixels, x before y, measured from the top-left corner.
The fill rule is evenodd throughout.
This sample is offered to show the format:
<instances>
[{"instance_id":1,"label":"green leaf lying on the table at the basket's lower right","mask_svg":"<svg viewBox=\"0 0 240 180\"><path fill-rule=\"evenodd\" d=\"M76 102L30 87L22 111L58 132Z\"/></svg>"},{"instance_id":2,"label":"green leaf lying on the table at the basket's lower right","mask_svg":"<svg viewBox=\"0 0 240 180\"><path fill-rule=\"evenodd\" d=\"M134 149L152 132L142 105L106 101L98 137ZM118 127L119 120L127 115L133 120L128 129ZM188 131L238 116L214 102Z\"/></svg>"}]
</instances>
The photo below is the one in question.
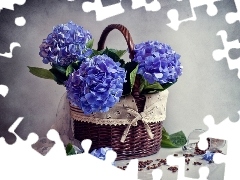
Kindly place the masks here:
<instances>
[{"instance_id":1,"label":"green leaf lying on the table at the basket's lower right","mask_svg":"<svg viewBox=\"0 0 240 180\"><path fill-rule=\"evenodd\" d=\"M179 148L186 144L187 139L182 131L169 135L165 128L162 130L161 147L163 148Z\"/></svg>"}]
</instances>

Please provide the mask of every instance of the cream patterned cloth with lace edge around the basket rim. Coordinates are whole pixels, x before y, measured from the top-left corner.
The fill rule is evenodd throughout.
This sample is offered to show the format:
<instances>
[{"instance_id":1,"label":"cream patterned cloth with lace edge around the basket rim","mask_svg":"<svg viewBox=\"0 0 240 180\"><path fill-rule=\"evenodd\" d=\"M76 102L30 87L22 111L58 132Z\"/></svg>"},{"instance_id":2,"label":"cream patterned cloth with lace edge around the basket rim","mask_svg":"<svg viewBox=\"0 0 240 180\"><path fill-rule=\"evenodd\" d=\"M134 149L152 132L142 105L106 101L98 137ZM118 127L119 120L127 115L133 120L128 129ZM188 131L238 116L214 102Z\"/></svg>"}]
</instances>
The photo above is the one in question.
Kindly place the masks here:
<instances>
[{"instance_id":1,"label":"cream patterned cloth with lace edge around the basket rim","mask_svg":"<svg viewBox=\"0 0 240 180\"><path fill-rule=\"evenodd\" d=\"M165 120L168 91L146 95L144 112L139 114L133 97L125 97L120 100L107 113L95 113L85 115L78 107L70 104L70 116L73 120L95 123L98 125L129 125L138 116L139 120L146 123L156 123ZM144 115L144 117L142 117ZM141 118L139 118L141 117ZM136 123L134 125L137 125Z\"/></svg>"}]
</instances>

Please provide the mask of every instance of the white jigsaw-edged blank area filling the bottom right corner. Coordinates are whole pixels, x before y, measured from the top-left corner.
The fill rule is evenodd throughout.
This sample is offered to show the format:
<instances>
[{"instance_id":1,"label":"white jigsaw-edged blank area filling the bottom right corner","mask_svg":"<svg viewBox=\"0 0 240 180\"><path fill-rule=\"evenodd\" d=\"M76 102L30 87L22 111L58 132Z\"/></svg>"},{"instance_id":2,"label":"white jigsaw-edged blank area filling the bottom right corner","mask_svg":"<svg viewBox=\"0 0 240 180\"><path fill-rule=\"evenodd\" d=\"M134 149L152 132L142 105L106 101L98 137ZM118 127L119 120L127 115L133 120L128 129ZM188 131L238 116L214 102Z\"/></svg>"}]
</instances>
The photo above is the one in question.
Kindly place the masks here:
<instances>
[{"instance_id":1,"label":"white jigsaw-edged blank area filling the bottom right corner","mask_svg":"<svg viewBox=\"0 0 240 180\"><path fill-rule=\"evenodd\" d=\"M240 117L240 111L238 111ZM232 179L232 177L239 176L239 167L236 163L239 162L239 149L237 143L239 142L239 128L240 121L231 122L229 118L226 118L219 124L215 124L214 118L208 115L204 118L204 123L208 126L208 131L200 135L199 148L204 149L206 147L206 138L224 139L227 141L227 154L215 153L213 161L216 164L225 163L224 180Z\"/></svg>"}]
</instances>

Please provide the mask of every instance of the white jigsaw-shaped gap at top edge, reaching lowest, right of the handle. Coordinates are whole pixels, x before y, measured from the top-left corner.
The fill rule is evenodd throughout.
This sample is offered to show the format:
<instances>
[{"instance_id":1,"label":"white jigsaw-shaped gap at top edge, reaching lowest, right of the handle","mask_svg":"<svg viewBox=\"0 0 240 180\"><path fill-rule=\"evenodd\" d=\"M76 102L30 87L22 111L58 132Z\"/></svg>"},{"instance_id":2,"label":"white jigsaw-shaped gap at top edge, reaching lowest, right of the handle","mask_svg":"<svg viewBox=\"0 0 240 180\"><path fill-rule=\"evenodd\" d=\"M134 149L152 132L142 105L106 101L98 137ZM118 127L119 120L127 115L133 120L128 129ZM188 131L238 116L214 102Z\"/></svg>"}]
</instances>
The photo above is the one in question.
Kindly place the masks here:
<instances>
[{"instance_id":1,"label":"white jigsaw-shaped gap at top edge, reaching lowest, right of the handle","mask_svg":"<svg viewBox=\"0 0 240 180\"><path fill-rule=\"evenodd\" d=\"M214 4L215 2L222 1L222 0L189 0L191 4L191 11L192 11L192 17L184 19L184 20L179 20L179 13L176 9L171 9L167 12L167 16L169 20L171 21L170 23L167 24L170 28L173 30L177 31L179 29L180 24L187 22L187 21L196 21L197 16L194 11L196 7L200 7L203 5L207 5L207 14L209 16L215 16L218 13L218 9L216 5Z\"/></svg>"}]
</instances>

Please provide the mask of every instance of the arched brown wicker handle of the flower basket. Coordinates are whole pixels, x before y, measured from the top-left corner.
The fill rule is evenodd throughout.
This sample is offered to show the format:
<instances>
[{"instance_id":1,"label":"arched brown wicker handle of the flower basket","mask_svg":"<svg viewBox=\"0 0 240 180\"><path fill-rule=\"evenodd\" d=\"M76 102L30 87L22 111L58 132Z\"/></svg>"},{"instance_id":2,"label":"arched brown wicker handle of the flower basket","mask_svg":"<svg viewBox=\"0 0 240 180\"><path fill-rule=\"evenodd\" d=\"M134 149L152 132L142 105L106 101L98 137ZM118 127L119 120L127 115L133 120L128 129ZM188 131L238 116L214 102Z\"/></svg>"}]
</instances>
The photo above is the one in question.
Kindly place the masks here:
<instances>
[{"instance_id":1,"label":"arched brown wicker handle of the flower basket","mask_svg":"<svg viewBox=\"0 0 240 180\"><path fill-rule=\"evenodd\" d=\"M124 36L124 38L127 42L127 45L128 45L129 58L132 61L134 58L134 43L133 43L131 34L128 31L128 29L121 24L110 24L103 30L101 37L98 41L98 49L97 50L101 51L104 49L104 44L105 44L106 38L107 38L108 34L114 29L119 30L122 33L122 35ZM132 96L135 98L136 104L138 106L138 101L139 101L139 98L141 97L141 95L140 95L140 76L138 74L136 75L135 83L133 85Z\"/></svg>"}]
</instances>

